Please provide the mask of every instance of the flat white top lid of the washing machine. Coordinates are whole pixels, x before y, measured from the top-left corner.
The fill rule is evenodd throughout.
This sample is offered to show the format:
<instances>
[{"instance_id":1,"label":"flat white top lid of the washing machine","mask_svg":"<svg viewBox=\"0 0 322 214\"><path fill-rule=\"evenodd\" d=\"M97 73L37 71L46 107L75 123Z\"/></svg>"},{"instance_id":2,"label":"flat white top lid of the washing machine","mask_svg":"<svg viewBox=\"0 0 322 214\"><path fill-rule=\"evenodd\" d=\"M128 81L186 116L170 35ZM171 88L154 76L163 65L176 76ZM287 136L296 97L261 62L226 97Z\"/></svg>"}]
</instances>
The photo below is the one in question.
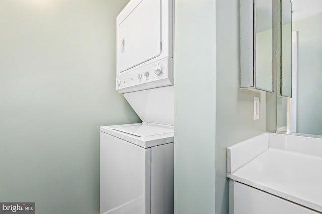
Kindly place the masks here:
<instances>
[{"instance_id":1,"label":"flat white top lid of the washing machine","mask_svg":"<svg viewBox=\"0 0 322 214\"><path fill-rule=\"evenodd\" d=\"M131 134L137 137L147 137L158 134L167 134L174 132L172 128L161 127L153 124L149 125L129 125L112 128L113 130L124 132L126 134Z\"/></svg>"}]
</instances>

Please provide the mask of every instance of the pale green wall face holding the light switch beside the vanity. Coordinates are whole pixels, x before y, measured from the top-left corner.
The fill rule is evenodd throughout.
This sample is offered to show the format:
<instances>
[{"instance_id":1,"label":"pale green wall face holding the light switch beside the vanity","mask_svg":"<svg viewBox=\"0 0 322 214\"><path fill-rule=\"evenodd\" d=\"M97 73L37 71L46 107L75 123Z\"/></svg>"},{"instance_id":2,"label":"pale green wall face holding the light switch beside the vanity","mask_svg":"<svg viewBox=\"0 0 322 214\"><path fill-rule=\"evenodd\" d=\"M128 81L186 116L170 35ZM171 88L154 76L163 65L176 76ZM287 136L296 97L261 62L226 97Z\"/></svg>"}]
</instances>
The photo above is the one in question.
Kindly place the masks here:
<instances>
[{"instance_id":1,"label":"pale green wall face holding the light switch beside the vanity","mask_svg":"<svg viewBox=\"0 0 322 214\"><path fill-rule=\"evenodd\" d=\"M238 32L239 1L217 0L216 214L228 214L226 147L266 131L266 95L269 93L256 93L239 88ZM259 120L253 120L254 96L260 97Z\"/></svg>"}]
</instances>

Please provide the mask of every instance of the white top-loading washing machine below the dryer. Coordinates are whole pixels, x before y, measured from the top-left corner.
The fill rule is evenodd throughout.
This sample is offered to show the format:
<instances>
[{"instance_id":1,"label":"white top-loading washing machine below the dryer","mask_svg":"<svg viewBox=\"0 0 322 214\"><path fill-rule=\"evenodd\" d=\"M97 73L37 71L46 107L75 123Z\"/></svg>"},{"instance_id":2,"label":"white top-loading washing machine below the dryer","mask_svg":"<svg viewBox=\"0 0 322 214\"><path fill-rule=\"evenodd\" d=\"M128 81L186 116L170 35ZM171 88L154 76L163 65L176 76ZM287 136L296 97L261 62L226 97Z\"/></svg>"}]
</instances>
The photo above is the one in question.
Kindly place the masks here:
<instances>
[{"instance_id":1,"label":"white top-loading washing machine below the dryer","mask_svg":"<svg viewBox=\"0 0 322 214\"><path fill-rule=\"evenodd\" d=\"M172 126L100 128L101 213L173 213Z\"/></svg>"}]
</instances>

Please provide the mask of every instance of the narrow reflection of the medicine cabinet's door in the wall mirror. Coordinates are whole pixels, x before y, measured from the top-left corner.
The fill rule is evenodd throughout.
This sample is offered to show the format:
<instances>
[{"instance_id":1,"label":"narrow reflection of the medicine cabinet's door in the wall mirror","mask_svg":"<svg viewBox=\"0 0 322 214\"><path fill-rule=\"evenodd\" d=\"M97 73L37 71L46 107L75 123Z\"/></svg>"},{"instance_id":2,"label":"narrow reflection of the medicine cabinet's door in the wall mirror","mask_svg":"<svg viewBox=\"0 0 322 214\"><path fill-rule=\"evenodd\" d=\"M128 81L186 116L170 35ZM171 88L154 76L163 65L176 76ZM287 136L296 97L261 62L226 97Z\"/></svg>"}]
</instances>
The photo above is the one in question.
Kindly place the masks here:
<instances>
[{"instance_id":1,"label":"narrow reflection of the medicine cabinet's door in the wall mirror","mask_svg":"<svg viewBox=\"0 0 322 214\"><path fill-rule=\"evenodd\" d=\"M282 68L281 95L292 97L292 4L290 0L281 1L282 12Z\"/></svg>"}]
</instances>

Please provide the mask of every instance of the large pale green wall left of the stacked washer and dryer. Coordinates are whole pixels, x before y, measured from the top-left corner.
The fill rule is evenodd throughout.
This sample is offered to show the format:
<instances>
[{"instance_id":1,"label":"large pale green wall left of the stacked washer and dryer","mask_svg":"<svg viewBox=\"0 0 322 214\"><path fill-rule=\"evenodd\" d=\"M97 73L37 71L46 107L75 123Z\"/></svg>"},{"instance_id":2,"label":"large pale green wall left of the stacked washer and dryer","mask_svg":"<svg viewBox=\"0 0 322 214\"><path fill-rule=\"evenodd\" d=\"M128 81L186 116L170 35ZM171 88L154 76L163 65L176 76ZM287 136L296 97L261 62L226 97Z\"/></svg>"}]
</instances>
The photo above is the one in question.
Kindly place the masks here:
<instances>
[{"instance_id":1,"label":"large pale green wall left of the stacked washer and dryer","mask_svg":"<svg viewBox=\"0 0 322 214\"><path fill-rule=\"evenodd\" d=\"M99 126L139 122L115 91L127 2L0 1L0 201L99 213Z\"/></svg>"}]
</instances>

